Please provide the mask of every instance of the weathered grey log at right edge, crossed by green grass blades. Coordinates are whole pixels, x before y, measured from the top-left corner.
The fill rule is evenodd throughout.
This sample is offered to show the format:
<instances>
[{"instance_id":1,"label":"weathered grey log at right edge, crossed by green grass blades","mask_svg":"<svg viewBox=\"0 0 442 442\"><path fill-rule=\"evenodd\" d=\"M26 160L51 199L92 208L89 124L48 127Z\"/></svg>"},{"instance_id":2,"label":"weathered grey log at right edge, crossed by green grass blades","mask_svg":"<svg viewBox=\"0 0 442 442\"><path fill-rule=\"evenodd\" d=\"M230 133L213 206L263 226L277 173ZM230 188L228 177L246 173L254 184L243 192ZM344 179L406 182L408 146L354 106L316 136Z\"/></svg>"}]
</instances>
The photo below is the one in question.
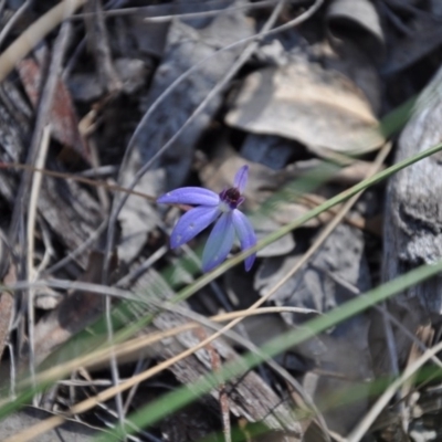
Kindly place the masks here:
<instances>
[{"instance_id":1,"label":"weathered grey log at right edge, crossed by green grass blades","mask_svg":"<svg viewBox=\"0 0 442 442\"><path fill-rule=\"evenodd\" d=\"M414 114L403 129L396 161L409 158L441 143L442 70L422 93ZM421 265L442 257L442 157L425 158L390 178L386 197L383 281L390 281ZM411 286L389 301L389 309L404 327L414 333L429 320L439 322L442 314L440 276ZM385 339L383 320L373 312L371 352L379 375L392 367ZM393 329L399 366L406 362L410 339Z\"/></svg>"}]
</instances>

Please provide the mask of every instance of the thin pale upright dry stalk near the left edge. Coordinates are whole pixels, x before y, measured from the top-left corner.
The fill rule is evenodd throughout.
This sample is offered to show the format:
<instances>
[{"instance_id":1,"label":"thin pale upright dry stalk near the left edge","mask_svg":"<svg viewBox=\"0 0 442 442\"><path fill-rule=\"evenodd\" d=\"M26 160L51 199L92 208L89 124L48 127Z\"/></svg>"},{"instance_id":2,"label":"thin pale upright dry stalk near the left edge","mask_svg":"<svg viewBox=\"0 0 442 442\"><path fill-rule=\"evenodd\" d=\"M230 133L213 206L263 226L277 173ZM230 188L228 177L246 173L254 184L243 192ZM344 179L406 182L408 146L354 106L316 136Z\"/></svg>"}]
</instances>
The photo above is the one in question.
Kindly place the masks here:
<instances>
[{"instance_id":1,"label":"thin pale upright dry stalk near the left edge","mask_svg":"<svg viewBox=\"0 0 442 442\"><path fill-rule=\"evenodd\" d=\"M43 136L40 145L40 150L38 152L38 157L35 159L36 167L43 167L46 161L49 144L51 141L51 126L48 125L43 129ZM32 179L31 194L29 199L29 209L28 209L28 281L35 281L35 272L33 265L34 259L34 231L35 231L35 220L36 220L36 206L39 202L39 194L42 182L42 175L35 173ZM31 378L35 379L35 352L34 352L34 325L35 325L35 315L34 315L34 291L31 288L28 291L28 334L29 334L29 365L31 371ZM34 385L34 383L33 383ZM34 398L34 406L38 407L38 398Z\"/></svg>"}]
</instances>

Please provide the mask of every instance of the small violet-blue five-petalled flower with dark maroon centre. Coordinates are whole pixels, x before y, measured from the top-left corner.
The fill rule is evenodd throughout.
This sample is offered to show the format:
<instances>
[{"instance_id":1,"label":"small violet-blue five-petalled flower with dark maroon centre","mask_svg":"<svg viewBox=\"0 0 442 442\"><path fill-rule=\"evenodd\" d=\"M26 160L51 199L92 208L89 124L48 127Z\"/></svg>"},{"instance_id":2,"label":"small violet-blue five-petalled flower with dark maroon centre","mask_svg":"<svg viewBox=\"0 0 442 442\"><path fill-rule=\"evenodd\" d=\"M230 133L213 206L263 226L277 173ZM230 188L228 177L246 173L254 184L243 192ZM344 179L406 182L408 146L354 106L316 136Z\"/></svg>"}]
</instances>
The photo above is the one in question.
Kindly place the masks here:
<instances>
[{"instance_id":1,"label":"small violet-blue five-petalled flower with dark maroon centre","mask_svg":"<svg viewBox=\"0 0 442 442\"><path fill-rule=\"evenodd\" d=\"M200 187L182 187L157 199L168 204L198 206L186 212L177 222L170 235L170 246L179 248L193 239L198 233L217 221L202 252L202 271L209 272L222 263L232 249L235 235L240 240L241 250L256 244L256 235L248 218L238 210L244 201L242 192L249 177L249 166L243 166L235 175L233 187L224 189L220 194ZM244 261L249 272L256 254Z\"/></svg>"}]
</instances>

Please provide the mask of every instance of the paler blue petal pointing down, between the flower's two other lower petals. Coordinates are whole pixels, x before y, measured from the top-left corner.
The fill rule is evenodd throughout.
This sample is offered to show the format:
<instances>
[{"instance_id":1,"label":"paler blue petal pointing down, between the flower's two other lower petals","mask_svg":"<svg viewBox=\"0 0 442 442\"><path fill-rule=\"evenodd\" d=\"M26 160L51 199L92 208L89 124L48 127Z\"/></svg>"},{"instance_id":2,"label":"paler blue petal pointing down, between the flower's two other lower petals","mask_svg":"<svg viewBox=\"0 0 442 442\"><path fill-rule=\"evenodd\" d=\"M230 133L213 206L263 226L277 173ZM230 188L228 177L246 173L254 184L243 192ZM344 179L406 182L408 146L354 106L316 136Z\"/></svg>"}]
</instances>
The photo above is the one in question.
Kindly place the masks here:
<instances>
[{"instance_id":1,"label":"paler blue petal pointing down, between the flower's two other lower petals","mask_svg":"<svg viewBox=\"0 0 442 442\"><path fill-rule=\"evenodd\" d=\"M225 260L232 249L233 240L232 213L223 213L214 224L202 252L203 272L209 272Z\"/></svg>"}]
</instances>

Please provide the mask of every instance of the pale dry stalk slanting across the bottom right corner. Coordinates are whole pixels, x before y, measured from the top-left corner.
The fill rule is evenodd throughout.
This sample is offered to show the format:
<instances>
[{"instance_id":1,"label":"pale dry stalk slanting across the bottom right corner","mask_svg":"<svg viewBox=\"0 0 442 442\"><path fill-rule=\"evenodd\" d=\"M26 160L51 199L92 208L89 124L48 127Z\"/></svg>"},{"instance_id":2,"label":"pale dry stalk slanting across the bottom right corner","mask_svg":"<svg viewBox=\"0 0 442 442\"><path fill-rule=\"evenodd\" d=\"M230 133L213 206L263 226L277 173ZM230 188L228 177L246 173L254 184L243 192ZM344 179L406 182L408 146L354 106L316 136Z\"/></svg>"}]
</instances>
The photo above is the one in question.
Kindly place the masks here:
<instances>
[{"instance_id":1,"label":"pale dry stalk slanting across the bottom right corner","mask_svg":"<svg viewBox=\"0 0 442 442\"><path fill-rule=\"evenodd\" d=\"M376 401L371 407L371 410L364 417L359 425L347 436L347 442L359 442L367 433L371 424L375 422L377 417L388 406L388 402L396 394L397 390L410 377L412 377L428 360L433 358L439 351L442 350L442 343L439 343L433 348L427 350L415 362L411 364L402 376L397 379L391 386L383 392L383 394Z\"/></svg>"}]
</instances>

